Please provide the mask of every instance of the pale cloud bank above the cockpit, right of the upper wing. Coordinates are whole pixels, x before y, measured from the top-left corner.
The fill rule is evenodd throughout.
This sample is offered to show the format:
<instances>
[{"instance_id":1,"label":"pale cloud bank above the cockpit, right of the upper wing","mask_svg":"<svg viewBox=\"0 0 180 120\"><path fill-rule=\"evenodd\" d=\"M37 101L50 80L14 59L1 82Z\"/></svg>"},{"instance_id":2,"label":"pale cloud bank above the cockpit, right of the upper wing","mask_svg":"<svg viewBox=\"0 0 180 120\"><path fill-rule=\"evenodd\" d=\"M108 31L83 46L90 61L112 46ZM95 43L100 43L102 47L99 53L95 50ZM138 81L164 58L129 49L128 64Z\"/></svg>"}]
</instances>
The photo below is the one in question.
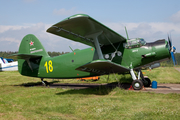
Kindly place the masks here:
<instances>
[{"instance_id":1,"label":"pale cloud bank above the cockpit, right of the upper wing","mask_svg":"<svg viewBox=\"0 0 180 120\"><path fill-rule=\"evenodd\" d=\"M167 33L180 34L180 24L168 22L151 23L104 23L110 29L126 37L125 26L130 38L143 37L148 41L166 38Z\"/></svg>"}]
</instances>

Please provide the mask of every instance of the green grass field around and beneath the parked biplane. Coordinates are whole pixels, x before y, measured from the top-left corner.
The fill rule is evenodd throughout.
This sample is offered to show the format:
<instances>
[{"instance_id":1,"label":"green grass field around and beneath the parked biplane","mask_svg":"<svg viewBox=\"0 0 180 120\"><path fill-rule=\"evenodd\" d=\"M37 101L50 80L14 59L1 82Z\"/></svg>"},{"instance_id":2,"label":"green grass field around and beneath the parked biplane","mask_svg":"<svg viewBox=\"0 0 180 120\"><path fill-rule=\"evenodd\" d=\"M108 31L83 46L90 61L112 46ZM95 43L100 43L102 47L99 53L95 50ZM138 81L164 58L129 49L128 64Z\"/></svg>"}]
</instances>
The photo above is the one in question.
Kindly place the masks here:
<instances>
[{"instance_id":1,"label":"green grass field around and beneath the parked biplane","mask_svg":"<svg viewBox=\"0 0 180 120\"><path fill-rule=\"evenodd\" d=\"M180 83L180 72L171 68L144 70L158 83ZM116 82L114 75L99 81L58 80L65 83ZM131 81L129 75L116 75L120 82ZM52 80L48 80L51 82ZM156 94L121 90L119 88L61 89L24 87L39 84L40 79L21 76L18 72L0 72L0 119L180 119L180 94Z\"/></svg>"}]
</instances>

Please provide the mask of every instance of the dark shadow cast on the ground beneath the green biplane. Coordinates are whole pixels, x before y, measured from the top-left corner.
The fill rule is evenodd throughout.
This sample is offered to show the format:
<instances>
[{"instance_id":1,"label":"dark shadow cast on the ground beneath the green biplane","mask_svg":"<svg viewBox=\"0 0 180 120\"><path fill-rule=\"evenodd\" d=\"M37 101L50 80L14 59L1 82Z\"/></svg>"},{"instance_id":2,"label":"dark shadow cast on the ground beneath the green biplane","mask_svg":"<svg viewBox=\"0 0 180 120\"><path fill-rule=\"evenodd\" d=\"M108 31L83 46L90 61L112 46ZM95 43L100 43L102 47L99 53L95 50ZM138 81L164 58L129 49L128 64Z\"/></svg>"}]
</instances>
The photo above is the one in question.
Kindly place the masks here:
<instances>
[{"instance_id":1,"label":"dark shadow cast on the ground beneath the green biplane","mask_svg":"<svg viewBox=\"0 0 180 120\"><path fill-rule=\"evenodd\" d=\"M95 95L107 95L114 88L119 87L121 89L128 89L131 84L112 82L108 84L80 84L80 83L57 83L59 81L48 82L48 88L65 88L68 89L64 92L56 93L56 95L67 95L67 94L95 94ZM55 84L54 84L55 83ZM42 87L42 82L28 82L14 86L23 87Z\"/></svg>"}]
</instances>

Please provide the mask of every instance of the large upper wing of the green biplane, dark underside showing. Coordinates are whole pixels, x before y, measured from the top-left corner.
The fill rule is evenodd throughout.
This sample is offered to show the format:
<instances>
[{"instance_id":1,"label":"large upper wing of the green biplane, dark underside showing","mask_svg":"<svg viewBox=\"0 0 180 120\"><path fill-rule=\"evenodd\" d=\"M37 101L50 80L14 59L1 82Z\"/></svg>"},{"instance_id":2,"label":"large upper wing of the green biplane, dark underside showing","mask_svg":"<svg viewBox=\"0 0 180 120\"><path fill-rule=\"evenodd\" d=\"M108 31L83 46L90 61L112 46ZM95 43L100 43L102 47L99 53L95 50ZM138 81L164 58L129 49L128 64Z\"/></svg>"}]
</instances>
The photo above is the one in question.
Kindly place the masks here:
<instances>
[{"instance_id":1,"label":"large upper wing of the green biplane, dark underside showing","mask_svg":"<svg viewBox=\"0 0 180 120\"><path fill-rule=\"evenodd\" d=\"M103 32L98 37L100 45L109 45L110 41L111 43L117 43L126 40L123 36L85 14L76 14L68 17L50 27L47 32L92 47L94 47L94 43L91 35L97 32Z\"/></svg>"}]
</instances>

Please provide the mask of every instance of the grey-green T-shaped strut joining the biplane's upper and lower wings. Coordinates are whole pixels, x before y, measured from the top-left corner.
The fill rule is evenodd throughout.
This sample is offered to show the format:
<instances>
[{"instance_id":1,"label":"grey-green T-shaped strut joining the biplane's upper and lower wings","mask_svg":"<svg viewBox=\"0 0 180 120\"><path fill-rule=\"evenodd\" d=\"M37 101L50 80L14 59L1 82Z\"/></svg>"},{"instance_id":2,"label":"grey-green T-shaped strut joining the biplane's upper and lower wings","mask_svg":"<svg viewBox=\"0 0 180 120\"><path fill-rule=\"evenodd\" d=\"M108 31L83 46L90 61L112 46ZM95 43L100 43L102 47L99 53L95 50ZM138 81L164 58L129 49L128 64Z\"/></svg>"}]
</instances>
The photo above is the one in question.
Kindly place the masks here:
<instances>
[{"instance_id":1,"label":"grey-green T-shaped strut joining the biplane's upper and lower wings","mask_svg":"<svg viewBox=\"0 0 180 120\"><path fill-rule=\"evenodd\" d=\"M93 34L90 34L90 35L87 35L86 37L91 37L93 38L94 40L94 45L95 45L95 48L97 50L97 54L99 56L99 59L104 59L103 57L103 54L102 54L102 51L101 51L101 48L100 48L100 44L99 44L99 41L98 41L98 36L101 35L103 33L103 31L100 31L100 32L97 32L97 33L93 33Z\"/></svg>"}]
</instances>

